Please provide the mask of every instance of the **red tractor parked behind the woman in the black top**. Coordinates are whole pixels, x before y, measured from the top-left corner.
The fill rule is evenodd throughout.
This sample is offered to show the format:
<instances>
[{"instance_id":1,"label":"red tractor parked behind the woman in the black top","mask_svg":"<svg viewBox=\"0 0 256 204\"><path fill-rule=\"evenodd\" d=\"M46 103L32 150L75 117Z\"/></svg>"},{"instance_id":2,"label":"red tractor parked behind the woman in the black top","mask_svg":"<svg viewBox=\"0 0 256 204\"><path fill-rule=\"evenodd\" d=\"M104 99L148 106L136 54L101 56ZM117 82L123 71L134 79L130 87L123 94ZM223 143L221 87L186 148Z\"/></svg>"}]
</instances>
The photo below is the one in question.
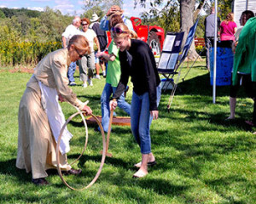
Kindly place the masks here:
<instances>
[{"instance_id":1,"label":"red tractor parked behind the woman in the black top","mask_svg":"<svg viewBox=\"0 0 256 204\"><path fill-rule=\"evenodd\" d=\"M159 26L143 26L142 20L131 17L134 31L137 32L138 39L147 42L152 49L154 56L160 56L165 41L165 31ZM111 42L110 32L108 31L108 44Z\"/></svg>"}]
</instances>

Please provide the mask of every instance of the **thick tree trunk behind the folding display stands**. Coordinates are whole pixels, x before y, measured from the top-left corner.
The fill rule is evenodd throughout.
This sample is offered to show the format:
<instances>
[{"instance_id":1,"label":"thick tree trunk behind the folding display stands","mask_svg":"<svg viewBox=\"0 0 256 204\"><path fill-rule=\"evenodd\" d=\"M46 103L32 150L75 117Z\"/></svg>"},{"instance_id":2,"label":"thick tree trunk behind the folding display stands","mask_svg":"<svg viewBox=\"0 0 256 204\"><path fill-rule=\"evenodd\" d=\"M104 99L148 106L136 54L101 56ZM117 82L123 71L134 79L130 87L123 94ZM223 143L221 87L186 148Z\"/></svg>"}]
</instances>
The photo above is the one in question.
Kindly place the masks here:
<instances>
[{"instance_id":1,"label":"thick tree trunk behind the folding display stands","mask_svg":"<svg viewBox=\"0 0 256 204\"><path fill-rule=\"evenodd\" d=\"M195 0L180 0L180 30L184 31L184 39L187 39L189 28L194 25L194 8ZM195 42L193 40L187 58L195 59L197 56L198 54L195 51Z\"/></svg>"}]
</instances>

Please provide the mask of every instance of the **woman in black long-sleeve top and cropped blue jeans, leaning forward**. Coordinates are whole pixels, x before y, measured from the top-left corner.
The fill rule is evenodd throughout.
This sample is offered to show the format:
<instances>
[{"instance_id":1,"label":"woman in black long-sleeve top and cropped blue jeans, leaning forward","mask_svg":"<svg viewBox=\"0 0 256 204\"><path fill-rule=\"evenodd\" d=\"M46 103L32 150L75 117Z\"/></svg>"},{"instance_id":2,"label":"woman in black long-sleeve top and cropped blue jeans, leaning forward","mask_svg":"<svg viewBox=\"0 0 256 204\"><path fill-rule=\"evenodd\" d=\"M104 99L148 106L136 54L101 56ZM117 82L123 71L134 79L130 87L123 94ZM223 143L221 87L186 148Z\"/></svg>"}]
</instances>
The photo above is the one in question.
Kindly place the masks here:
<instances>
[{"instance_id":1,"label":"woman in black long-sleeve top and cropped blue jeans, leaning forward","mask_svg":"<svg viewBox=\"0 0 256 204\"><path fill-rule=\"evenodd\" d=\"M121 77L119 85L110 102L115 109L119 96L125 91L129 77L133 83L131 99L131 131L141 148L142 161L133 177L142 178L148 174L148 166L154 165L155 158L151 152L149 127L152 119L158 118L157 106L160 102L160 77L158 75L154 55L148 44L131 39L131 31L125 24L118 24L112 29L113 41L119 48Z\"/></svg>"}]
</instances>

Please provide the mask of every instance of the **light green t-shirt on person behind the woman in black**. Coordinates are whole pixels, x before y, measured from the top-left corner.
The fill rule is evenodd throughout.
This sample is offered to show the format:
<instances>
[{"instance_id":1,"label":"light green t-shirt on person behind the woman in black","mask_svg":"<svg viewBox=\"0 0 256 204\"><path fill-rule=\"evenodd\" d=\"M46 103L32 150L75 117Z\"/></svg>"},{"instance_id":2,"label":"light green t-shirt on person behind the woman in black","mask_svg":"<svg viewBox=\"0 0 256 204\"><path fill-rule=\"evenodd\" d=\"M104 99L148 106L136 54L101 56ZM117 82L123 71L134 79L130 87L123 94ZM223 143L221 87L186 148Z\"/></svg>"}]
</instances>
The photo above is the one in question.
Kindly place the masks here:
<instances>
[{"instance_id":1,"label":"light green t-shirt on person behind the woman in black","mask_svg":"<svg viewBox=\"0 0 256 204\"><path fill-rule=\"evenodd\" d=\"M113 44L113 41L109 44L108 54L114 54L115 59L113 61L108 61L106 82L111 84L112 87L117 87L121 76L121 67L119 61L119 48Z\"/></svg>"}]
</instances>

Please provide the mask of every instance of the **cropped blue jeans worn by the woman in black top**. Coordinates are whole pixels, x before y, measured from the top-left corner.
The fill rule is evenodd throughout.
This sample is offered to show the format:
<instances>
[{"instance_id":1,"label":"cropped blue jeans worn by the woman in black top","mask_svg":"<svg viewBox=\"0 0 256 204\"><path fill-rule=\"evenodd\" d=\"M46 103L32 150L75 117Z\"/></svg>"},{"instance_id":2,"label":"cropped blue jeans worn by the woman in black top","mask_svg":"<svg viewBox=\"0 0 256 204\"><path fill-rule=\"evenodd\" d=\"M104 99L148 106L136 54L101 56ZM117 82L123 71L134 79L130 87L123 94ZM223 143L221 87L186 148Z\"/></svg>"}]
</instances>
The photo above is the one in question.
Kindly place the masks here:
<instances>
[{"instance_id":1,"label":"cropped blue jeans worn by the woman in black top","mask_svg":"<svg viewBox=\"0 0 256 204\"><path fill-rule=\"evenodd\" d=\"M157 105L160 103L161 88L156 88ZM133 92L131 99L131 132L141 148L142 154L151 152L150 125L153 116L150 116L148 92L137 95Z\"/></svg>"}]
</instances>

